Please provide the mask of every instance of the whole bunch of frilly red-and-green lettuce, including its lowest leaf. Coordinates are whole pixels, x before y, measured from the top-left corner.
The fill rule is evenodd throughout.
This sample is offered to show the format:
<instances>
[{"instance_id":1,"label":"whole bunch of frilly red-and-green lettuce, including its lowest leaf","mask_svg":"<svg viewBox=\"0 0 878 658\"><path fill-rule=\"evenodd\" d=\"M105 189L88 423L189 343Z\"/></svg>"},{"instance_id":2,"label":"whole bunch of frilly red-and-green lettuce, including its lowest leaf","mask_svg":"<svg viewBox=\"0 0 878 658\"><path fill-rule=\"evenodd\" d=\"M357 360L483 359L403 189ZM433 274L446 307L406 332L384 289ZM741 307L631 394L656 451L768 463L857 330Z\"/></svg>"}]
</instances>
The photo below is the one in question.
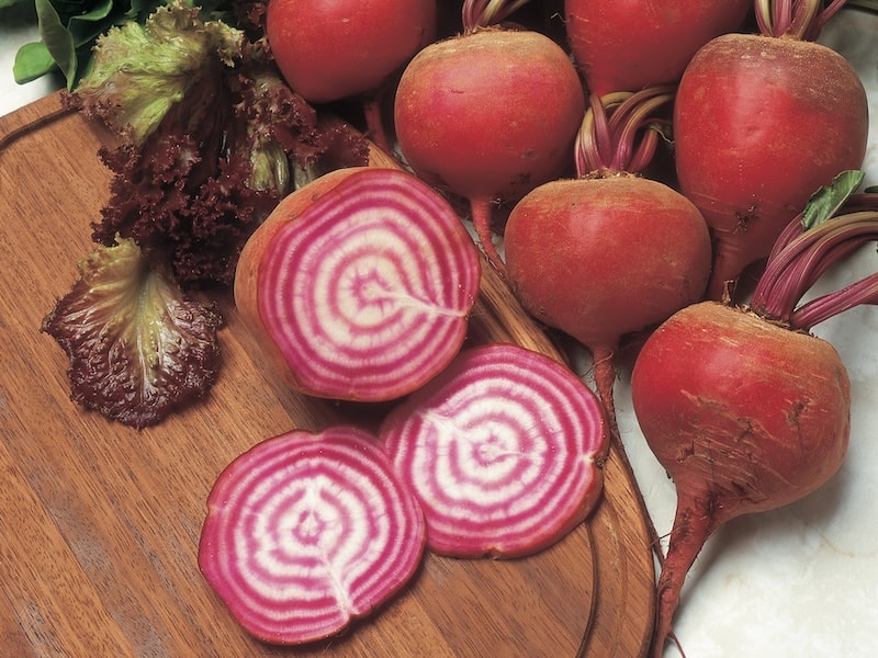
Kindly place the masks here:
<instances>
[{"instance_id":1,"label":"whole bunch of frilly red-and-green lettuce, including its lowest leaf","mask_svg":"<svg viewBox=\"0 0 878 658\"><path fill-rule=\"evenodd\" d=\"M318 116L280 77L254 27L259 7L246 13L247 34L172 0L102 36L89 73L61 94L117 139L99 150L112 172L92 223L102 247L43 330L69 356L71 397L133 427L212 386L222 320L185 294L230 286L293 167L368 162L358 131Z\"/></svg>"}]
</instances>

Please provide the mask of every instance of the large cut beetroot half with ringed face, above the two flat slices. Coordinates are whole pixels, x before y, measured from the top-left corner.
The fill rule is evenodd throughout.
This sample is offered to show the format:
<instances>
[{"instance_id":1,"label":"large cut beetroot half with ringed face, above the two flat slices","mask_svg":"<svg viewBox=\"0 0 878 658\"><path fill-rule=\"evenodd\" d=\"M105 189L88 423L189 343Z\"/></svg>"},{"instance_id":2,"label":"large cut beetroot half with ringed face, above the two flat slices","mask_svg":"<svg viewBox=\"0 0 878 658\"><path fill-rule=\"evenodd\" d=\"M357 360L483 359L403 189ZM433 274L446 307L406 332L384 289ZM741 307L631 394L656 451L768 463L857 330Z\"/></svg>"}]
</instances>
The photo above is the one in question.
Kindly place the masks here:
<instances>
[{"instance_id":1,"label":"large cut beetroot half with ringed face, above the two flat slices","mask_svg":"<svg viewBox=\"0 0 878 658\"><path fill-rule=\"evenodd\" d=\"M481 277L454 211L414 175L333 171L284 198L245 246L235 302L302 393L389 400L454 358Z\"/></svg>"}]
</instances>

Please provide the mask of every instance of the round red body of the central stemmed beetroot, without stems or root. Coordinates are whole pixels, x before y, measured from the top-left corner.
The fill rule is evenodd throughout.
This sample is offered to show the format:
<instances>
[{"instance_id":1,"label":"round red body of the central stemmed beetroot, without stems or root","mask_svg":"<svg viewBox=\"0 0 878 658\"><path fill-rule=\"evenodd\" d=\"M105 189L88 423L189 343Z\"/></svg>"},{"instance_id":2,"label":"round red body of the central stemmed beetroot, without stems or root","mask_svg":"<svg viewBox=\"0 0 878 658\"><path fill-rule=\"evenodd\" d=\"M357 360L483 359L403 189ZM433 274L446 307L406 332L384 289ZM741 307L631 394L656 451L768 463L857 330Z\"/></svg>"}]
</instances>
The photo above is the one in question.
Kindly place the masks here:
<instances>
[{"instance_id":1,"label":"round red body of the central stemmed beetroot, without stems or root","mask_svg":"<svg viewBox=\"0 0 878 658\"><path fill-rule=\"evenodd\" d=\"M701 299L710 237L698 209L656 181L553 181L513 209L506 266L536 318L604 359L624 334Z\"/></svg>"}]
</instances>

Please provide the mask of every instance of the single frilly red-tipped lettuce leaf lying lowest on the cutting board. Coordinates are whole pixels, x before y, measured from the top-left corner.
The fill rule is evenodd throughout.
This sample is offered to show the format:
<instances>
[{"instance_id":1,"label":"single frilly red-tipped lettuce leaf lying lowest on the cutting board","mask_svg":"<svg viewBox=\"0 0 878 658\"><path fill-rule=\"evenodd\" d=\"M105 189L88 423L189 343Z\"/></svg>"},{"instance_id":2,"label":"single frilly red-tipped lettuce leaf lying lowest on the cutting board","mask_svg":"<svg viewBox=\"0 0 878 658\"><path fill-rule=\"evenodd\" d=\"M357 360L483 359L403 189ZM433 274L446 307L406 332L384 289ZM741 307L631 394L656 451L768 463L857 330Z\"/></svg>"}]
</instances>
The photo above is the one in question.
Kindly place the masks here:
<instances>
[{"instance_id":1,"label":"single frilly red-tipped lettuce leaf lying lowest on the cutting board","mask_svg":"<svg viewBox=\"0 0 878 658\"><path fill-rule=\"evenodd\" d=\"M97 249L79 273L42 325L67 352L75 401L139 429L210 390L222 322L212 305L187 298L130 239Z\"/></svg>"}]
</instances>

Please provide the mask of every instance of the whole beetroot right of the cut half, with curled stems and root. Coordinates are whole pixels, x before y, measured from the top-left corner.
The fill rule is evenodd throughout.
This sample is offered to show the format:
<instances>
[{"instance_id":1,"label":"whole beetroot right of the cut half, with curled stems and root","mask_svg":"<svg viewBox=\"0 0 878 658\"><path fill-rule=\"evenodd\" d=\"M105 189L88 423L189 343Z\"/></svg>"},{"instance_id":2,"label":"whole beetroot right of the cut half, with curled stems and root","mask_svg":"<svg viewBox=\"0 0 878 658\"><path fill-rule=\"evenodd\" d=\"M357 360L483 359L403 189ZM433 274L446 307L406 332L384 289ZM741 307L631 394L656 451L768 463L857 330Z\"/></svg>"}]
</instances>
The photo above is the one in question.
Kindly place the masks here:
<instances>
[{"instance_id":1,"label":"whole beetroot right of the cut half, with curled stems and root","mask_svg":"<svg viewBox=\"0 0 878 658\"><path fill-rule=\"evenodd\" d=\"M579 178L537 188L506 226L513 290L536 318L592 352L614 428L620 341L700 300L710 271L710 237L698 209L637 174L655 148L653 114L672 98L667 88L592 94L577 147Z\"/></svg>"}]
</instances>

